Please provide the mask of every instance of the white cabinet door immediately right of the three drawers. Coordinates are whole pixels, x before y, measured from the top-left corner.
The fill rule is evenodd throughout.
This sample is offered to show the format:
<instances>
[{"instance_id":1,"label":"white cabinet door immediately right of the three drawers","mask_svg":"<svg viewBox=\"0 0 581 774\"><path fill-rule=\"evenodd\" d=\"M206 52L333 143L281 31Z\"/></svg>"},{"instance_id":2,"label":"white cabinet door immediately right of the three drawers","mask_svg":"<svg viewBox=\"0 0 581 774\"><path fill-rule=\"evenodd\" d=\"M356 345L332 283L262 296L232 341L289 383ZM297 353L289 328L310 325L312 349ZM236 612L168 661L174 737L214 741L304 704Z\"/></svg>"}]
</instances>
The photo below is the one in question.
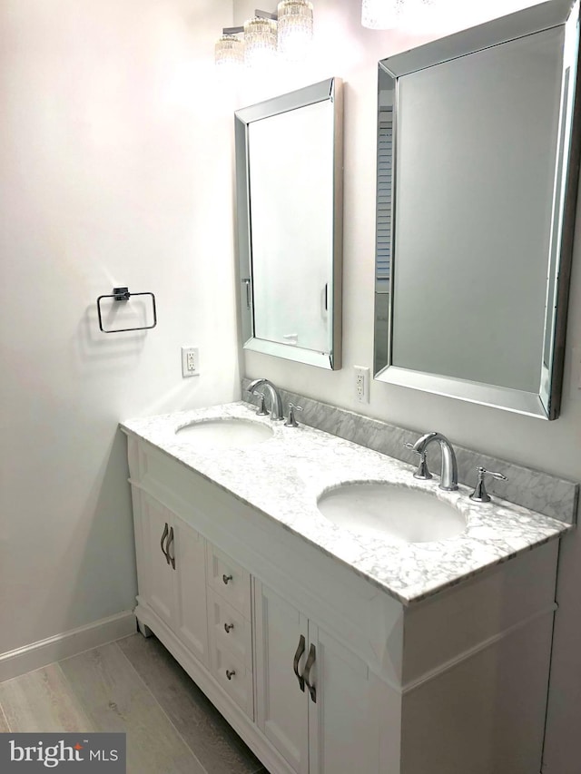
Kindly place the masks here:
<instances>
[{"instance_id":1,"label":"white cabinet door immediately right of the three drawers","mask_svg":"<svg viewBox=\"0 0 581 774\"><path fill-rule=\"evenodd\" d=\"M307 774L308 693L300 690L293 661L300 642L304 642L306 650L308 621L290 603L258 581L255 600L257 723L291 767L299 774ZM300 674L305 661L306 653L303 652L297 665Z\"/></svg>"}]
</instances>

